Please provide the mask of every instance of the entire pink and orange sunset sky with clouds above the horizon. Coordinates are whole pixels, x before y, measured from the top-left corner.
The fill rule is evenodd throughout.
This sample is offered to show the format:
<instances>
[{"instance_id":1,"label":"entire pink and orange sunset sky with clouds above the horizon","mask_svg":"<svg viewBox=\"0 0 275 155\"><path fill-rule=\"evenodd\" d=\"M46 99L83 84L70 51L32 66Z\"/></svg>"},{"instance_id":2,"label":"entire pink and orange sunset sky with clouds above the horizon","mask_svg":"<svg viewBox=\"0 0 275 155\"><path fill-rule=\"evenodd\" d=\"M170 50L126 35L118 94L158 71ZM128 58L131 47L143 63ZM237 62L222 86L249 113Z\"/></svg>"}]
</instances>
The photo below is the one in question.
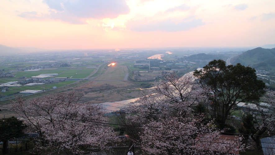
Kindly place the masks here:
<instances>
[{"instance_id":1,"label":"entire pink and orange sunset sky with clouds above the horizon","mask_svg":"<svg viewBox=\"0 0 275 155\"><path fill-rule=\"evenodd\" d=\"M0 44L42 49L275 44L275 1L0 0Z\"/></svg>"}]
</instances>

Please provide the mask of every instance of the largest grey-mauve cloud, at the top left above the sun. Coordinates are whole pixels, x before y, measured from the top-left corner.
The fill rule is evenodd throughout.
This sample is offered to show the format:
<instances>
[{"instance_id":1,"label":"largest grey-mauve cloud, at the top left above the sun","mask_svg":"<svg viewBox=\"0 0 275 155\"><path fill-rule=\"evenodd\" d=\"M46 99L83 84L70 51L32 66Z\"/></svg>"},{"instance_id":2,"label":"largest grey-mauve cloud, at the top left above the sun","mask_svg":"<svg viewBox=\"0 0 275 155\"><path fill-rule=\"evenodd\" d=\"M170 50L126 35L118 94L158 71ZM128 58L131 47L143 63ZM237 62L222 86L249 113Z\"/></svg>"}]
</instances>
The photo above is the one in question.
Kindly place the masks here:
<instances>
[{"instance_id":1,"label":"largest grey-mauve cloud, at the top left above the sun","mask_svg":"<svg viewBox=\"0 0 275 155\"><path fill-rule=\"evenodd\" d=\"M72 24L86 24L86 19L116 18L121 14L128 14L130 8L125 0L43 0L52 11L44 14L43 18L70 22ZM29 16L26 16L26 15ZM30 16L23 12L19 16L24 18L42 18Z\"/></svg>"}]
</instances>

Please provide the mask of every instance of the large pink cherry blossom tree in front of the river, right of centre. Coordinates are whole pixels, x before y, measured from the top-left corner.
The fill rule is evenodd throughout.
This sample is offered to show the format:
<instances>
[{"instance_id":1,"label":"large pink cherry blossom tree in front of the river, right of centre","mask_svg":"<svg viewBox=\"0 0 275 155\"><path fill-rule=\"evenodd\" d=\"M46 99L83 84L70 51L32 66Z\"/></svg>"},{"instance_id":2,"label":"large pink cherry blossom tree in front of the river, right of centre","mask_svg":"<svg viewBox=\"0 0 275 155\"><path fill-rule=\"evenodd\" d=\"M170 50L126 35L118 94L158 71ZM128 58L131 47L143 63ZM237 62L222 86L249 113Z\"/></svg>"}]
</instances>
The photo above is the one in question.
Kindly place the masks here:
<instances>
[{"instance_id":1,"label":"large pink cherry blossom tree in front of the river, right of centre","mask_svg":"<svg viewBox=\"0 0 275 155\"><path fill-rule=\"evenodd\" d=\"M153 90L133 106L128 119L142 125L140 143L150 154L229 154L236 153L240 138L222 139L212 121L193 109L206 102L206 90L196 84L192 74L183 77L164 74L166 80L156 82ZM134 114L134 115L133 115Z\"/></svg>"}]
</instances>

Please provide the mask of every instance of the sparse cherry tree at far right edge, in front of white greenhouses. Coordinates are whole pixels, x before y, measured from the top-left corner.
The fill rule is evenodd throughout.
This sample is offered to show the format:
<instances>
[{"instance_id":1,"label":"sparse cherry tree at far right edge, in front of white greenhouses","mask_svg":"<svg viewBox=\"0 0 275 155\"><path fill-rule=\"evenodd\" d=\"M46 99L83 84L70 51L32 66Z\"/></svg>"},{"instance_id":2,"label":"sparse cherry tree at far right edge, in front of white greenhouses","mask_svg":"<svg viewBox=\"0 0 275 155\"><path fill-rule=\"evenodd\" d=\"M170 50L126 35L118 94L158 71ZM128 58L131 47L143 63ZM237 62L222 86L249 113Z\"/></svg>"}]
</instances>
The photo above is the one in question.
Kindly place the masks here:
<instances>
[{"instance_id":1,"label":"sparse cherry tree at far right edge, in front of white greenhouses","mask_svg":"<svg viewBox=\"0 0 275 155\"><path fill-rule=\"evenodd\" d=\"M247 106L239 131L242 134L251 134L258 150L261 149L261 135L275 134L275 91L266 90L260 102ZM248 140L249 136L245 136L246 145Z\"/></svg>"}]
</instances>

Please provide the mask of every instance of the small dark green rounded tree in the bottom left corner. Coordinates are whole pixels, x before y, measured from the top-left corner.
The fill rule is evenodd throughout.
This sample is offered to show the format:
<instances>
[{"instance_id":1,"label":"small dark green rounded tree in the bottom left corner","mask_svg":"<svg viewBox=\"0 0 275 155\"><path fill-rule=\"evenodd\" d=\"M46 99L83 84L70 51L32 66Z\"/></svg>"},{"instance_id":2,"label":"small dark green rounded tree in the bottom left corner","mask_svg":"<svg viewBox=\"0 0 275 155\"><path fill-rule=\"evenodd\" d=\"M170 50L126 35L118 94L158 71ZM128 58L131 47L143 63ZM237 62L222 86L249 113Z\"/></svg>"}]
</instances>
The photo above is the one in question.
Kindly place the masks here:
<instances>
[{"instance_id":1,"label":"small dark green rounded tree in the bottom left corner","mask_svg":"<svg viewBox=\"0 0 275 155\"><path fill-rule=\"evenodd\" d=\"M21 137L24 134L23 130L25 128L26 125L23 121L13 116L0 119L0 141L3 142L3 154L6 153L8 140Z\"/></svg>"}]
</instances>

